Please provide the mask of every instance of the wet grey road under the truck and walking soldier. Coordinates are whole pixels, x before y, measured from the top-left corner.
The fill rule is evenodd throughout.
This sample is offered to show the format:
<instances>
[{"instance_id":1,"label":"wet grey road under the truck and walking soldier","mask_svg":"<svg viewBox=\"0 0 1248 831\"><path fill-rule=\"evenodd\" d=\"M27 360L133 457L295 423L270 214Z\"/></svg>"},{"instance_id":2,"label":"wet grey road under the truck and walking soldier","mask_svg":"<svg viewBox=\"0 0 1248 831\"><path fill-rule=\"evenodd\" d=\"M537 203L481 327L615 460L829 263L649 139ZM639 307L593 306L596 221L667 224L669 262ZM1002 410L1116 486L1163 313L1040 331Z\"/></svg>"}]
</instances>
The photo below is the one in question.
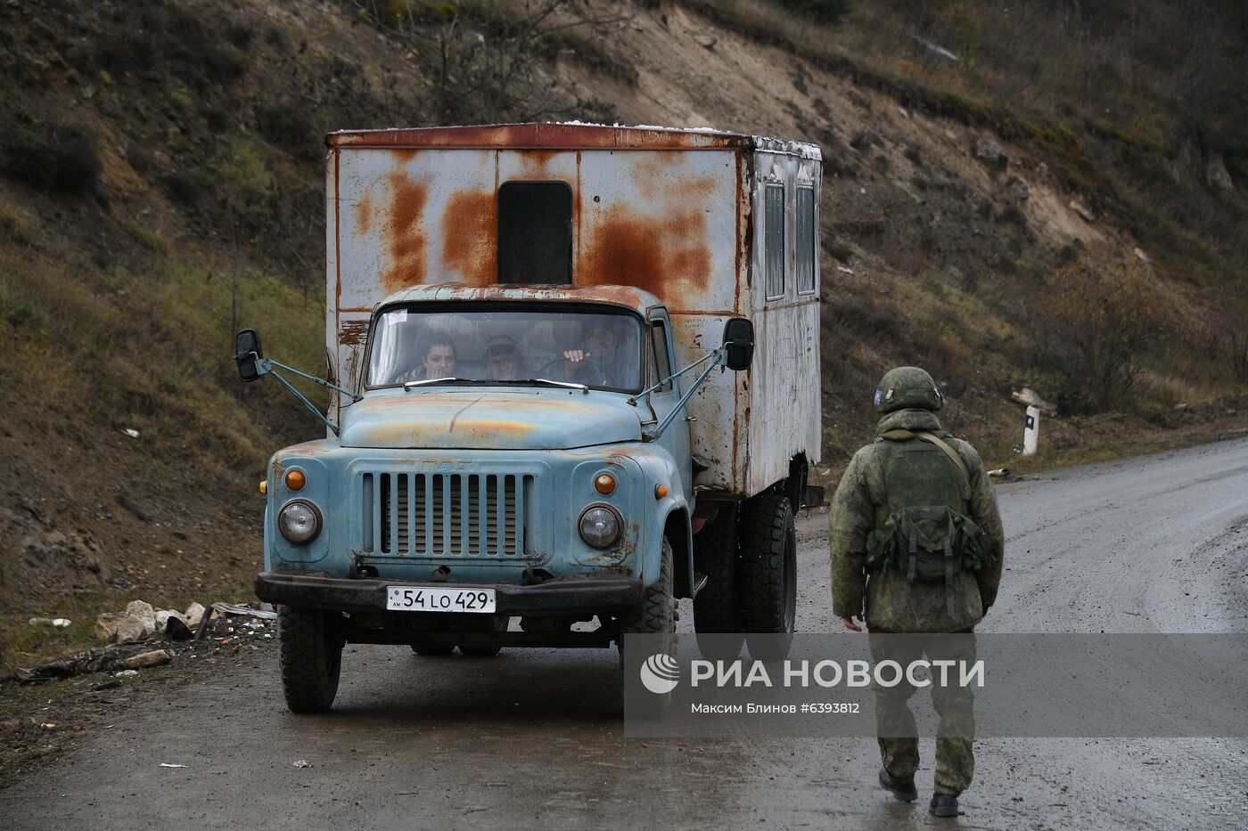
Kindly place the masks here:
<instances>
[{"instance_id":1,"label":"wet grey road under the truck and walking soldier","mask_svg":"<svg viewBox=\"0 0 1248 831\"><path fill-rule=\"evenodd\" d=\"M985 630L1248 631L1248 440L1000 497L1008 570ZM804 631L834 630L825 519L799 523ZM936 821L875 787L870 740L625 740L614 651L348 648L326 717L286 712L273 659L14 784L0 827L1248 827L1246 740L981 740L963 815Z\"/></svg>"}]
</instances>

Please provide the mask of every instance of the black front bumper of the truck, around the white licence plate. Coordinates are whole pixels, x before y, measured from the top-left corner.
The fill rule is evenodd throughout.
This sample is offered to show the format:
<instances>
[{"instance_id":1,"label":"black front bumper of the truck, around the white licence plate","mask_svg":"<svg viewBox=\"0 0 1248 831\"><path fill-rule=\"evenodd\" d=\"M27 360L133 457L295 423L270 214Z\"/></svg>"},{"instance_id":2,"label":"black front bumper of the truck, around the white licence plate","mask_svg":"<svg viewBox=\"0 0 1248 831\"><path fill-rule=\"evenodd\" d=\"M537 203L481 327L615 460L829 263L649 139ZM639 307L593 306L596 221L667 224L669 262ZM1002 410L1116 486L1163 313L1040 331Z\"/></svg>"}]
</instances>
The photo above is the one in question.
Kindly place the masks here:
<instances>
[{"instance_id":1,"label":"black front bumper of the truck, around the white licence plate","mask_svg":"<svg viewBox=\"0 0 1248 831\"><path fill-rule=\"evenodd\" d=\"M534 585L514 583L413 583L374 578L331 578L319 574L263 571L256 596L266 603L331 611L384 611L386 589L494 589L500 615L563 615L624 611L641 603L641 580L623 574L578 574Z\"/></svg>"}]
</instances>

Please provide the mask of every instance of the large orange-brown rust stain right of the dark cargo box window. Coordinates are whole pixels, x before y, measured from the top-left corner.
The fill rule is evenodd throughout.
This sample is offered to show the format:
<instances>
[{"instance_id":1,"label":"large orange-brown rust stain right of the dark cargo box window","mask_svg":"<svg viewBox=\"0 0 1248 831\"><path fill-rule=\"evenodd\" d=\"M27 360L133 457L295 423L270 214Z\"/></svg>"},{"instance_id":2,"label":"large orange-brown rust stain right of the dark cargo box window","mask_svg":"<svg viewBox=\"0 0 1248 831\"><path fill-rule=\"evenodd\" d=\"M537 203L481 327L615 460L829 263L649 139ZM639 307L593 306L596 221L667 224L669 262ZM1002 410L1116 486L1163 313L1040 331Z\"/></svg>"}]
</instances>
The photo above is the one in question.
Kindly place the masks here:
<instances>
[{"instance_id":1,"label":"large orange-brown rust stain right of the dark cargo box window","mask_svg":"<svg viewBox=\"0 0 1248 831\"><path fill-rule=\"evenodd\" d=\"M582 238L580 286L636 286L675 299L710 284L706 215L696 207L675 207L658 217L617 207L588 233L588 241Z\"/></svg>"}]
</instances>

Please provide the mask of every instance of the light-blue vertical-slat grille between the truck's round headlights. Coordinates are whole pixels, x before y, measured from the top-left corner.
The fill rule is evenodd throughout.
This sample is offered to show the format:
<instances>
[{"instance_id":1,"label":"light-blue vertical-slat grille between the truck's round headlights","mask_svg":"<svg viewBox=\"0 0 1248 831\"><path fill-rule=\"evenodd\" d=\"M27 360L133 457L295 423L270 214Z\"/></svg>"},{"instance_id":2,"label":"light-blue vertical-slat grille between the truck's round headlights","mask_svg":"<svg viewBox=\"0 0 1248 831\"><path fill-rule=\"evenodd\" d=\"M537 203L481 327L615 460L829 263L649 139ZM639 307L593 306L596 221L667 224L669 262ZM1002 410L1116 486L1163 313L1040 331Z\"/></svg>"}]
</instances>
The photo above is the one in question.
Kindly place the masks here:
<instances>
[{"instance_id":1,"label":"light-blue vertical-slat grille between the truck's round headlights","mask_svg":"<svg viewBox=\"0 0 1248 831\"><path fill-rule=\"evenodd\" d=\"M527 550L527 474L366 473L363 550L412 556L517 556Z\"/></svg>"}]
</instances>

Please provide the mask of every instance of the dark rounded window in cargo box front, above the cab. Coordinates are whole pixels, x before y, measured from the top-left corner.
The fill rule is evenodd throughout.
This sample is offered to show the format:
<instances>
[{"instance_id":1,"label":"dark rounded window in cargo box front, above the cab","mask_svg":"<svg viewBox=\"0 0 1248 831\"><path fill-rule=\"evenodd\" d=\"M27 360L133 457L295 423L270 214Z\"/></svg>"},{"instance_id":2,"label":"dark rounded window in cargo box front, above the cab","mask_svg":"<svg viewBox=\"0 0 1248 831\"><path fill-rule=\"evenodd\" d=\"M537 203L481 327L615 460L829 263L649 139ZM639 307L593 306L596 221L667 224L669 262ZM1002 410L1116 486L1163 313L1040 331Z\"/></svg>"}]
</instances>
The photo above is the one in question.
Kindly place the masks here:
<instances>
[{"instance_id":1,"label":"dark rounded window in cargo box front, above the cab","mask_svg":"<svg viewBox=\"0 0 1248 831\"><path fill-rule=\"evenodd\" d=\"M498 188L498 282L572 284L572 188L565 182Z\"/></svg>"}]
</instances>

